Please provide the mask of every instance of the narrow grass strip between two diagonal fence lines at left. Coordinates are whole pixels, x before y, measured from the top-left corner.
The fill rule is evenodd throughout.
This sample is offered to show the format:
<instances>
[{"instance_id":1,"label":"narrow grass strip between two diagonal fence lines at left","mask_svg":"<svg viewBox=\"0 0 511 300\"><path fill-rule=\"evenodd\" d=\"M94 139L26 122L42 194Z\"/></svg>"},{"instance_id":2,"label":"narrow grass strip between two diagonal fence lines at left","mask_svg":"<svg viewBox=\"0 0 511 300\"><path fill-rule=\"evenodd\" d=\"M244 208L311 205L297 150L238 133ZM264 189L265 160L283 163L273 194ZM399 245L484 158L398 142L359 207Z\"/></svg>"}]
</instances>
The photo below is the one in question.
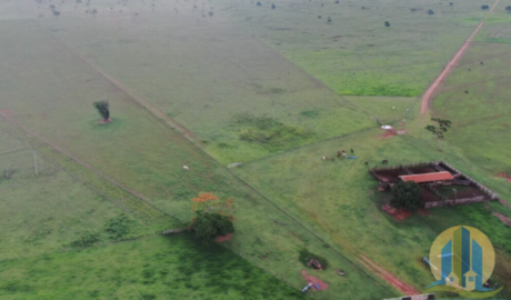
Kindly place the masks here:
<instances>
[{"instance_id":1,"label":"narrow grass strip between two diagonal fence lines at left","mask_svg":"<svg viewBox=\"0 0 511 300\"><path fill-rule=\"evenodd\" d=\"M103 196L116 206L121 207L131 216L146 222L159 223L170 218L158 208L153 207L138 193L128 190L120 183L111 180L90 166L42 140L29 130L17 126L12 120L1 117L2 120L10 121L10 132L22 139L30 148L39 152L46 160L58 166L76 180L82 182L88 188Z\"/></svg>"}]
</instances>

